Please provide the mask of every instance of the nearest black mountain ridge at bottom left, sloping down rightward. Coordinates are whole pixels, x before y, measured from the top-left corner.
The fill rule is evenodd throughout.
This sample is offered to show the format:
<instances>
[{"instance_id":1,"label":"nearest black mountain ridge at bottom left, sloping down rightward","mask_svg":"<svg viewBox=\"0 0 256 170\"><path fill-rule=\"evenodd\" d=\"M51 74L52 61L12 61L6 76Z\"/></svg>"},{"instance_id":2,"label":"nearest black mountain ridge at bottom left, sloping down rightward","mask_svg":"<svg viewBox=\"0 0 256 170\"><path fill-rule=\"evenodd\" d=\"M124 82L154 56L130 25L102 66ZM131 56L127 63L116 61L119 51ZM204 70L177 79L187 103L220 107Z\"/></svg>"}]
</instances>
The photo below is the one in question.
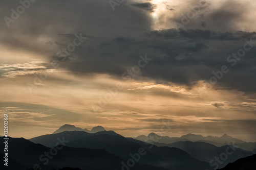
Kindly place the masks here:
<instances>
[{"instance_id":1,"label":"nearest black mountain ridge at bottom left, sloping down rightward","mask_svg":"<svg viewBox=\"0 0 256 170\"><path fill-rule=\"evenodd\" d=\"M54 153L48 162L47 156L44 156L46 152L51 153L52 148L45 147L41 144L35 144L24 138L11 138L9 137L9 159L15 160L18 164L26 169L33 168L35 164L38 164L40 168L44 169L58 169L63 167L80 168L87 170L113 170L121 169L121 162L127 162L127 159L110 154L105 150L87 149L87 148L70 148L58 145L61 148ZM0 146L3 148L4 143ZM56 148L55 148L56 149ZM3 151L0 153L3 155ZM40 156L43 155L44 157ZM44 165L44 163L46 163ZM11 163L11 162L10 162ZM5 168L4 168L5 169ZM25 168L12 168L11 170L25 169ZM150 169L150 170L166 170L164 168L157 168L150 165L143 165L136 163L133 169Z\"/></svg>"}]
</instances>

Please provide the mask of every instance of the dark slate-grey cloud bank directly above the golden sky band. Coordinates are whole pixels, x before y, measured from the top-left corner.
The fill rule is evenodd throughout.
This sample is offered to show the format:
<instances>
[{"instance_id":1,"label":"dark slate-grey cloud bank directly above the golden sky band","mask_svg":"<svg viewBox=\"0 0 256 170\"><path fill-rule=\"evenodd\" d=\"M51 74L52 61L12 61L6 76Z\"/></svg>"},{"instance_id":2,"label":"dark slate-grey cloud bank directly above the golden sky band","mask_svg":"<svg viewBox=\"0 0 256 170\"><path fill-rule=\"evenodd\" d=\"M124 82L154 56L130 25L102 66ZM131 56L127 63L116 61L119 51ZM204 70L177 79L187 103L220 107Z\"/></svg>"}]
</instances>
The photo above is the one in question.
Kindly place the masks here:
<instances>
[{"instance_id":1,"label":"dark slate-grey cloud bank directly above the golden sky band","mask_svg":"<svg viewBox=\"0 0 256 170\"><path fill-rule=\"evenodd\" d=\"M83 62L72 65L68 63L66 66L78 72L109 73L120 78L127 68L137 64L139 55L147 54L152 60L148 66L141 69L141 76L156 81L191 85L193 81L209 80L213 76L212 71L219 70L222 65L228 65L230 68L230 72L221 80L229 87L244 89L244 82L253 81L254 47L236 66L230 66L227 57L237 53L243 47L244 39L254 37L254 33L222 34L208 30L186 30L186 34L176 34L183 35L168 39L166 36L147 35L139 38L118 36L104 40L90 39L90 45L85 45L77 51L79 61ZM91 57L79 56L80 54ZM247 84L246 89L250 91L254 90L254 87Z\"/></svg>"}]
</instances>

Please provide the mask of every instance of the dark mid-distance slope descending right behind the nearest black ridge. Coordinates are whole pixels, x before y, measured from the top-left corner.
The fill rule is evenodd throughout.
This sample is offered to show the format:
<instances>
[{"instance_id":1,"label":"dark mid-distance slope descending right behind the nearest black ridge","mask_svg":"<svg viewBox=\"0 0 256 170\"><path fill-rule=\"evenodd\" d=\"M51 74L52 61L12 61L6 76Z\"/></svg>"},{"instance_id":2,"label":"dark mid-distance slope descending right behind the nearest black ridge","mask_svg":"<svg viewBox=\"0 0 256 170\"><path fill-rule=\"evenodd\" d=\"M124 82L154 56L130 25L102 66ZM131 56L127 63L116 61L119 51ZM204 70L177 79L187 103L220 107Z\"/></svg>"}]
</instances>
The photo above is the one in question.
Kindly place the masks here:
<instances>
[{"instance_id":1,"label":"dark mid-distance slope descending right behind the nearest black ridge","mask_svg":"<svg viewBox=\"0 0 256 170\"><path fill-rule=\"evenodd\" d=\"M151 149L148 148L150 147L149 145L142 145L140 142L141 141L132 138L125 138L121 135L102 134L73 140L67 145L77 148L104 149L109 153L126 159L130 159L131 154L134 155L138 153L140 148L144 148L146 154L141 156L139 161L142 164L180 170L192 170L192 167L198 167L197 169L205 169L208 167L206 162L199 161L180 149L156 146L153 147L154 149ZM189 165L187 162L189 162Z\"/></svg>"}]
</instances>

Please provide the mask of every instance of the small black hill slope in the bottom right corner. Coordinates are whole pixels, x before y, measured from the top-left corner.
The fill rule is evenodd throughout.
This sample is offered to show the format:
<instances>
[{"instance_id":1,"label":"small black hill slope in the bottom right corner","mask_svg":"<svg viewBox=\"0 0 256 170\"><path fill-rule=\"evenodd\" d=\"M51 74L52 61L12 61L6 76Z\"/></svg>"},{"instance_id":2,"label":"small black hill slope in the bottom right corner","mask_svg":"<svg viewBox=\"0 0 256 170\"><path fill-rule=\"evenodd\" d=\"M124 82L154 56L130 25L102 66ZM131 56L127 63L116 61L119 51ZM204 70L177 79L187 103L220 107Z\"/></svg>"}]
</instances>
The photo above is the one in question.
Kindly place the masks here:
<instances>
[{"instance_id":1,"label":"small black hill slope in the bottom right corner","mask_svg":"<svg viewBox=\"0 0 256 170\"><path fill-rule=\"evenodd\" d=\"M241 158L233 163L229 163L221 170L255 170L256 169L256 154Z\"/></svg>"}]
</instances>

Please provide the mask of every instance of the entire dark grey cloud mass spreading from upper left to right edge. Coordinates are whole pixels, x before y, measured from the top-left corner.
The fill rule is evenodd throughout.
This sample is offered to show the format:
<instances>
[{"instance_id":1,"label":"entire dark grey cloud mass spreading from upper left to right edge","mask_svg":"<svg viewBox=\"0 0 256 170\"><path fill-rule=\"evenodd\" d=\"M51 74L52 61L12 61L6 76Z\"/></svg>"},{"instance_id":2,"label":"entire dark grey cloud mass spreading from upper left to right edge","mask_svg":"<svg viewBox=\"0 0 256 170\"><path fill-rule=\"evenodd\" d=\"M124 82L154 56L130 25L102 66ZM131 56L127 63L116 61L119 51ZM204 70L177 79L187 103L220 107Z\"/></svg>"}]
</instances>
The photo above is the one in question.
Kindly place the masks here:
<instances>
[{"instance_id":1,"label":"entire dark grey cloud mass spreading from upper left to right edge","mask_svg":"<svg viewBox=\"0 0 256 170\"><path fill-rule=\"evenodd\" d=\"M3 17L10 17L10 9L20 5L19 2L1 3ZM243 16L240 15L242 8L232 9L238 5L224 3L217 11L199 15L218 23L216 26L222 29L189 29L198 22L195 19L191 20L191 26L187 25L187 29L178 32L176 29L151 31L151 12L154 10L151 3L121 4L113 12L108 1L38 0L10 23L10 28L6 27L4 20L1 21L0 41L9 48L45 55L51 61L57 59L58 50L73 41L75 33L82 33L88 39L76 47L71 54L72 60L61 62L61 67L74 74L104 73L122 79L123 72L137 65L140 55L147 54L152 60L141 68L135 79L149 78L158 83L193 86L195 81L209 80L212 71L228 65L230 71L221 84L256 92L253 86L256 70L252 64L256 60L255 47L246 52L236 66L230 67L227 62L229 55L243 47L245 38L252 37L256 41L255 32L228 29L231 21ZM40 38L44 39L43 43L37 41Z\"/></svg>"}]
</instances>

